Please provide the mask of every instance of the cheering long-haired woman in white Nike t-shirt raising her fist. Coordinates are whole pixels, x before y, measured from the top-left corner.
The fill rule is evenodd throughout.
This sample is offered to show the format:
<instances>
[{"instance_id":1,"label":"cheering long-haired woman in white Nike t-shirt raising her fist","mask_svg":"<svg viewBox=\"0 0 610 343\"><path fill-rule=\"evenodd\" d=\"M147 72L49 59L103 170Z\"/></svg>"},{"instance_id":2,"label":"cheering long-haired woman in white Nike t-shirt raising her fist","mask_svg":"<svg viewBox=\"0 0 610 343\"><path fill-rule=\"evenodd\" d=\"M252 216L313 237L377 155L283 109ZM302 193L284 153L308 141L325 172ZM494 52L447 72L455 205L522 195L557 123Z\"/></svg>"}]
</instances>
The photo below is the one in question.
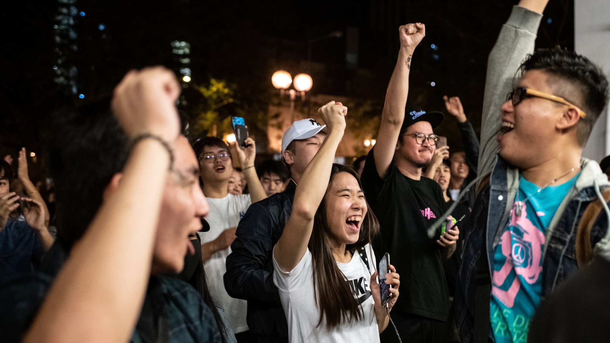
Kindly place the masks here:
<instances>
[{"instance_id":1,"label":"cheering long-haired woman in white Nike t-shirt raising her fist","mask_svg":"<svg viewBox=\"0 0 610 343\"><path fill-rule=\"evenodd\" d=\"M292 215L273 250L273 281L290 342L379 342L398 298L399 276L390 266L386 309L370 245L379 223L356 173L332 163L347 107L331 101L318 112L328 134L296 186Z\"/></svg>"}]
</instances>

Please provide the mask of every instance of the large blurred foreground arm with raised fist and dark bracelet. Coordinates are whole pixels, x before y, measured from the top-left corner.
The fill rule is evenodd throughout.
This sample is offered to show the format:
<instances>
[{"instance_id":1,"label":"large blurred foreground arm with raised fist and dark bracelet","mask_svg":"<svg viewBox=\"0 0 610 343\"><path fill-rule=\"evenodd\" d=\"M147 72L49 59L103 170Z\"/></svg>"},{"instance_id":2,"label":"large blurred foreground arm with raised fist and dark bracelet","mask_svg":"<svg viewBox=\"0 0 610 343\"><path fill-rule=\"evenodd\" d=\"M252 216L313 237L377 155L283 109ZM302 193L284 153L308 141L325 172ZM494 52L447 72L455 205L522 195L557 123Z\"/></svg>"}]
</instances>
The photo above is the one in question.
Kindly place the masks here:
<instances>
[{"instance_id":1,"label":"large blurred foreground arm with raised fist and dark bracelet","mask_svg":"<svg viewBox=\"0 0 610 343\"><path fill-rule=\"evenodd\" d=\"M115 89L113 112L129 137L149 132L173 145L179 93L171 71L130 71ZM148 284L168 167L170 153L159 141L133 147L117 189L72 248L24 342L129 341Z\"/></svg>"}]
</instances>

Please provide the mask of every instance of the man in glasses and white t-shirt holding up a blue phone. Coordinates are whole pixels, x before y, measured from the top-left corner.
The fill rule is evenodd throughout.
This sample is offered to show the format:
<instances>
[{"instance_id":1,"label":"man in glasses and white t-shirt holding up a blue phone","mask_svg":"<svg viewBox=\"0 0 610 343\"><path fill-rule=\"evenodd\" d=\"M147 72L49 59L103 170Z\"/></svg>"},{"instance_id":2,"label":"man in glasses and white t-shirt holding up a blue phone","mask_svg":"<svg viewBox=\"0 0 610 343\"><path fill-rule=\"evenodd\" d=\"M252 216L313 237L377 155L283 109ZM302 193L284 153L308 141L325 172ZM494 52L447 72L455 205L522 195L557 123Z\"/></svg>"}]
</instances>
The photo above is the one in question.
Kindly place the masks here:
<instances>
[{"instance_id":1,"label":"man in glasses and white t-shirt holding up a blue phone","mask_svg":"<svg viewBox=\"0 0 610 343\"><path fill-rule=\"evenodd\" d=\"M206 217L210 231L199 233L201 238L201 258L206 275L209 277L209 291L227 316L237 342L248 342L249 332L246 323L246 301L236 299L224 289L223 275L226 272L226 258L231 253L231 243L235 230L249 206L267 198L254 168L256 143L252 137L245 139L245 147L232 143L237 152L242 171L249 185L249 194L229 193L229 179L233 164L229 146L218 137L204 137L193 146L199 161L203 193L210 206Z\"/></svg>"}]
</instances>

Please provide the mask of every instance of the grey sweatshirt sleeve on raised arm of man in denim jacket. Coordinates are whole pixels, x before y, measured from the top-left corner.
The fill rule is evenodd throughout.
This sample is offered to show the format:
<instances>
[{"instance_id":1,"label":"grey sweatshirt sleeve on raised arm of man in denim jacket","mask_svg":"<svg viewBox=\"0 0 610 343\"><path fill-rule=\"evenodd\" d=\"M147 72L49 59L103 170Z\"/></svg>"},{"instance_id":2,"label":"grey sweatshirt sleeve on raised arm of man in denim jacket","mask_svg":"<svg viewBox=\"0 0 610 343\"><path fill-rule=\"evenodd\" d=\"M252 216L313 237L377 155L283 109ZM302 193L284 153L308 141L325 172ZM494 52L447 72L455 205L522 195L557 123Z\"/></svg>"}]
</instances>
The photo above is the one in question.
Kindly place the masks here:
<instances>
[{"instance_id":1,"label":"grey sweatshirt sleeve on raised arm of man in denim jacket","mask_svg":"<svg viewBox=\"0 0 610 343\"><path fill-rule=\"evenodd\" d=\"M512 90L519 66L527 54L534 52L541 19L540 13L519 6L512 7L511 16L502 26L498 40L489 53L481 118L479 176L489 173L495 164L495 156L500 149L496 141L502 124L500 107Z\"/></svg>"}]
</instances>

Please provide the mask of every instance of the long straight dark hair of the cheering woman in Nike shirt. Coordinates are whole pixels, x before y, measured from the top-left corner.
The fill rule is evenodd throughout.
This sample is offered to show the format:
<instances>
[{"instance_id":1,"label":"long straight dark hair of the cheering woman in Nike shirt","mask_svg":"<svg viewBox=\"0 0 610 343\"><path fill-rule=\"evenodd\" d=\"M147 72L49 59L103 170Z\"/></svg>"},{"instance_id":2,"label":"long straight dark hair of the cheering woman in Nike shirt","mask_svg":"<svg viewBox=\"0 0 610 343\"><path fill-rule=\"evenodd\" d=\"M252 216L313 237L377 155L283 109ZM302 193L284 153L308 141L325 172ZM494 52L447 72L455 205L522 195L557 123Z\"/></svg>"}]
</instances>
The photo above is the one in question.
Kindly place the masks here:
<instances>
[{"instance_id":1,"label":"long straight dark hair of the cheering woman in Nike shirt","mask_svg":"<svg viewBox=\"0 0 610 343\"><path fill-rule=\"evenodd\" d=\"M360 178L350 167L345 167L340 164L333 164L331 170L331 179L328 183L328 192L331 189L332 181L339 173L349 173L358 181L358 185L362 187ZM371 208L367 204L367 215L363 218L358 241L354 244L346 245L345 249L352 253L364 247L367 244L372 244L373 239L379 234L379 222ZM314 217L314 229L309 239L309 251L312 255L312 264L314 267L314 294L318 308L320 309L320 320L326 317L326 325L334 328L342 322L351 322L351 320L362 320L364 312L362 307L357 303L356 298L351 291L350 284L345 280L345 275L337 266L337 262L332 256L331 244L332 239L331 228L328 225L326 217L326 202L322 200L318 211Z\"/></svg>"}]
</instances>

